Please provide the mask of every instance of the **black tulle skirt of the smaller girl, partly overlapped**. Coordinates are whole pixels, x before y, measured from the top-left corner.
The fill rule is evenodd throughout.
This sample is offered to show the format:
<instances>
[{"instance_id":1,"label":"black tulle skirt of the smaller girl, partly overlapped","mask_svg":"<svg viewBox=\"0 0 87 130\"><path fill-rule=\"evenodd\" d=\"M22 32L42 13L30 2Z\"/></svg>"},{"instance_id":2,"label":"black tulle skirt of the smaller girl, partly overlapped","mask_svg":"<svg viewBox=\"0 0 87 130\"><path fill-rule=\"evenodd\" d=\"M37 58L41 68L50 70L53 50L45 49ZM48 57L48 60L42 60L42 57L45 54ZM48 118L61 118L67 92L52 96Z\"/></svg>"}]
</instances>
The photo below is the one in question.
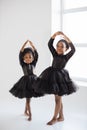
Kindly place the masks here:
<instances>
[{"instance_id":1,"label":"black tulle skirt of the smaller girl, partly overlapped","mask_svg":"<svg viewBox=\"0 0 87 130\"><path fill-rule=\"evenodd\" d=\"M37 76L34 74L22 76L9 90L9 92L18 98L31 98L43 96L43 94L35 92L32 88L32 85L36 80Z\"/></svg>"}]
</instances>

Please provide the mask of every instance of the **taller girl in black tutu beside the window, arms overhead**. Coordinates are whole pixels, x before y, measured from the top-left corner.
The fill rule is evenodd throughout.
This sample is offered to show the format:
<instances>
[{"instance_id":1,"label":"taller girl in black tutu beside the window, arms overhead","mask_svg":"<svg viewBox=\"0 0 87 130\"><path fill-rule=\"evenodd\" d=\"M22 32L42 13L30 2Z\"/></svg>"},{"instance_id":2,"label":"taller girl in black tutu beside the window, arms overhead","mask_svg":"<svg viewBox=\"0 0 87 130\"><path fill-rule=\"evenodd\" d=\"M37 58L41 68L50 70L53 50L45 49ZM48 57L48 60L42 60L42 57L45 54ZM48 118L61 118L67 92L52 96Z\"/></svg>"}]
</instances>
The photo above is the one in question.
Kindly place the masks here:
<instances>
[{"instance_id":1,"label":"taller girl in black tutu beside the window, arms overhead","mask_svg":"<svg viewBox=\"0 0 87 130\"><path fill-rule=\"evenodd\" d=\"M63 39L58 41L55 49L53 42L57 35L62 35ZM66 63L74 54L75 47L71 40L62 32L54 33L48 42L48 47L53 56L52 66L48 67L41 73L33 87L36 92L55 95L54 116L47 123L48 125L52 125L64 120L62 96L72 94L77 90L68 71L64 69ZM69 48L71 50L65 54Z\"/></svg>"}]
</instances>

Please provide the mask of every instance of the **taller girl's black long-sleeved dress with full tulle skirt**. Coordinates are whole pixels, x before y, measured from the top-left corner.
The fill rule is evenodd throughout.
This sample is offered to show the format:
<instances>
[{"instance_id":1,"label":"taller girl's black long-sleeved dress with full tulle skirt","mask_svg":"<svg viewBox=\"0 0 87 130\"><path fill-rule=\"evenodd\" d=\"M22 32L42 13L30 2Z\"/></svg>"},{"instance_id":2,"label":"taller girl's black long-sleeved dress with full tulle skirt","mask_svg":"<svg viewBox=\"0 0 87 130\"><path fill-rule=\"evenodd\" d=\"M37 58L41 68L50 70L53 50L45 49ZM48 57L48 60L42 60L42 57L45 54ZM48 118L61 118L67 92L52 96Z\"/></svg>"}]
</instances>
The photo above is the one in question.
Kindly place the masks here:
<instances>
[{"instance_id":1,"label":"taller girl's black long-sleeved dress with full tulle skirt","mask_svg":"<svg viewBox=\"0 0 87 130\"><path fill-rule=\"evenodd\" d=\"M64 69L67 61L74 54L75 48L69 43L71 51L66 55L59 55L53 47L54 39L48 42L49 49L53 55L52 66L45 69L33 84L35 92L42 94L69 95L76 92L77 86L71 80L69 73Z\"/></svg>"}]
</instances>

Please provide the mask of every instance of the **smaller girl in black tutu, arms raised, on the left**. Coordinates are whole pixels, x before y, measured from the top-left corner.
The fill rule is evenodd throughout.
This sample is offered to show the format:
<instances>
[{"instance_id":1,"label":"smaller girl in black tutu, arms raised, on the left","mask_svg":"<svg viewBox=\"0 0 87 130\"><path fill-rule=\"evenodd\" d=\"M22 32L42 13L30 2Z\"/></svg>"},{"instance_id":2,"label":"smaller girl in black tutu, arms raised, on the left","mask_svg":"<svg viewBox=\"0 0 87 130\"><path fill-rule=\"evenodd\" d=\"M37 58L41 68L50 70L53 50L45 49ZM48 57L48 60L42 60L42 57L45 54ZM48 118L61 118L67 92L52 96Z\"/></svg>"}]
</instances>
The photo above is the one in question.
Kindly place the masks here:
<instances>
[{"instance_id":1,"label":"smaller girl in black tutu, arms raised, on the left","mask_svg":"<svg viewBox=\"0 0 87 130\"><path fill-rule=\"evenodd\" d=\"M26 47L26 44L29 44L31 47ZM37 79L37 76L33 73L37 60L37 50L35 49L33 43L27 40L19 53L19 61L22 66L24 76L22 76L10 89L10 92L14 96L18 98L26 98L25 115L29 116L28 120L31 120L30 98L40 96L39 94L34 93L32 89L32 84Z\"/></svg>"}]
</instances>

